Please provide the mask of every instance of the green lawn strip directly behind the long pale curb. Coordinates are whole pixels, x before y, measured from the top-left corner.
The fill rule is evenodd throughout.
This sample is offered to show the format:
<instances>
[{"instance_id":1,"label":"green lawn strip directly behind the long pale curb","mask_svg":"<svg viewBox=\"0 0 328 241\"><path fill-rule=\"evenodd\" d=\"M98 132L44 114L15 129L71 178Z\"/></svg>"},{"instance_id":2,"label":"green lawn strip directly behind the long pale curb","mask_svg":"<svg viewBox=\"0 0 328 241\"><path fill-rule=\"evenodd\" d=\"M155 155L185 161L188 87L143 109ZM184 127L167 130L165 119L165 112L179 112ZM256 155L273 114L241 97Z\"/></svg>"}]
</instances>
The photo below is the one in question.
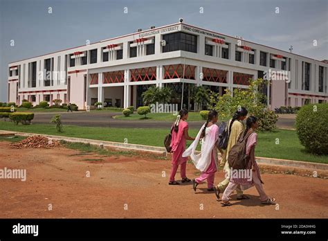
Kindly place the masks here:
<instances>
[{"instance_id":1,"label":"green lawn strip directly behind the long pale curb","mask_svg":"<svg viewBox=\"0 0 328 241\"><path fill-rule=\"evenodd\" d=\"M72 136L117 142L124 142L124 140L127 139L128 143L155 146L163 146L164 136L169 132L169 130L165 129L152 128L123 129L65 125L64 132L59 133L55 130L55 125L15 125L14 123L4 121L0 121L0 130ZM191 129L189 134L190 136L196 136L198 131L199 130ZM275 144L276 139L279 139L279 144ZM188 141L188 144L190 143L191 142ZM328 163L327 156L315 156L304 152L304 148L300 145L298 136L293 130L277 130L277 132L272 133L259 133L256 155L258 157Z\"/></svg>"}]
</instances>

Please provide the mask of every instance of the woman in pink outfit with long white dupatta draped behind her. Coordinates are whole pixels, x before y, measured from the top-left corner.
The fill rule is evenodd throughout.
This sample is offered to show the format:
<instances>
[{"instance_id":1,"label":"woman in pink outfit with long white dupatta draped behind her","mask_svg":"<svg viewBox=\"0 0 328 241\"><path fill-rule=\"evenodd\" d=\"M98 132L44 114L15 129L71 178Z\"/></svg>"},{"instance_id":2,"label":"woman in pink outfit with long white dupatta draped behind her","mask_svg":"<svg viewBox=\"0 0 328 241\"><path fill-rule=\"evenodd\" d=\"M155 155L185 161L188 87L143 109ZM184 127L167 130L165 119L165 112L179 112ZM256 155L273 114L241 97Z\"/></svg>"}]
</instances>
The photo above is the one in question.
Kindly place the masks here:
<instances>
[{"instance_id":1,"label":"woman in pink outfit with long white dupatta draped behind her","mask_svg":"<svg viewBox=\"0 0 328 241\"><path fill-rule=\"evenodd\" d=\"M206 179L208 191L215 191L214 179L215 172L217 172L217 148L215 143L217 142L219 132L219 127L215 125L217 119L217 111L212 110L208 113L208 120L201 127L201 130L199 130L194 142L182 155L182 157L190 156L196 168L201 170L201 176L192 180L194 191L196 191L197 186ZM195 154L200 139L202 139L201 153Z\"/></svg>"}]
</instances>

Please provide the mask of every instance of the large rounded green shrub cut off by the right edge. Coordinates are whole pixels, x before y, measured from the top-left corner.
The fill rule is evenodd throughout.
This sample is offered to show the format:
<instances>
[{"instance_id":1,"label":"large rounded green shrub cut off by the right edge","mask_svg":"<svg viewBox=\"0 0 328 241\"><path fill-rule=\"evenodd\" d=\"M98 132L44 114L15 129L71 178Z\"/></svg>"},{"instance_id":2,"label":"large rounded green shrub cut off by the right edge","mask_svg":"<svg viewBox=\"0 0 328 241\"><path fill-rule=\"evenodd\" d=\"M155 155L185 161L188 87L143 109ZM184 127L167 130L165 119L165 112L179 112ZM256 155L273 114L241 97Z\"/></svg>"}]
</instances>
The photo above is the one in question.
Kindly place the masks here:
<instances>
[{"instance_id":1,"label":"large rounded green shrub cut off by the right edge","mask_svg":"<svg viewBox=\"0 0 328 241\"><path fill-rule=\"evenodd\" d=\"M296 116L300 143L313 154L328 154L328 104L304 105Z\"/></svg>"}]
</instances>

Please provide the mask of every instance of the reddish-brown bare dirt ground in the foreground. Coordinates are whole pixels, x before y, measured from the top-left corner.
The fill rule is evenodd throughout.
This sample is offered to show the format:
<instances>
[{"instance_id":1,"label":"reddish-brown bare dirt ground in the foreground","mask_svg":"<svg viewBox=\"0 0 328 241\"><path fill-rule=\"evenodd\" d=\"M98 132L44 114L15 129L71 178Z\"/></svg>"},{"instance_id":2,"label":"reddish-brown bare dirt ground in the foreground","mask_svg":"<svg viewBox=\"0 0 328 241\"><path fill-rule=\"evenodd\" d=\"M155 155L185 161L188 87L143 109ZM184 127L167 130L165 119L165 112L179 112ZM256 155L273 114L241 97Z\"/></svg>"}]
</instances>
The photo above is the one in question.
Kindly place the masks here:
<instances>
[{"instance_id":1,"label":"reddish-brown bare dirt ground in the foreground","mask_svg":"<svg viewBox=\"0 0 328 241\"><path fill-rule=\"evenodd\" d=\"M5 167L26 168L27 179L0 179L1 218L328 217L327 179L264 173L266 193L277 199L279 208L260 204L255 188L246 191L249 200L237 201L233 195L234 205L221 207L206 184L197 193L190 184L168 186L167 160L81 155L62 147L14 150L2 141L0 169ZM187 174L193 178L199 172L188 163ZM215 182L223 177L217 172Z\"/></svg>"}]
</instances>

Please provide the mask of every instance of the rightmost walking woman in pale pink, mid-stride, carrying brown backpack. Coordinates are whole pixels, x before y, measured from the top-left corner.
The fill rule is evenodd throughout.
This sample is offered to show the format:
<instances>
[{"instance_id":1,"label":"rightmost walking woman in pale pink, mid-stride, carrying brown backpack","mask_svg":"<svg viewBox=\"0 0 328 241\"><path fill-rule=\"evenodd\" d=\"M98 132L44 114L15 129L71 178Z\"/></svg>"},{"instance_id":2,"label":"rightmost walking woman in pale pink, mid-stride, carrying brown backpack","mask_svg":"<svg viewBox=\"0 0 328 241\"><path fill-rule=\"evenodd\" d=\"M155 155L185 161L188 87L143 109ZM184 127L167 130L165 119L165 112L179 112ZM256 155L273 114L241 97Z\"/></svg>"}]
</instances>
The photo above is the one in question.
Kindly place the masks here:
<instances>
[{"instance_id":1,"label":"rightmost walking woman in pale pink, mid-stride, carrying brown backpack","mask_svg":"<svg viewBox=\"0 0 328 241\"><path fill-rule=\"evenodd\" d=\"M243 177L235 177L234 175L230 175L230 182L222 197L222 206L232 205L229 202L229 198L238 185L241 186L242 190L246 190L252 186L255 186L257 192L259 193L259 199L261 199L262 204L275 204L275 198L268 197L264 192L264 188L262 186L264 182L261 179L259 167L255 161L255 145L257 144L257 134L255 133L255 130L257 127L257 118L255 116L249 116L246 120L246 130L241 134L243 136L250 134L246 141L246 156L248 157L246 174L248 175L244 174ZM239 138L242 138L242 136L239 136Z\"/></svg>"}]
</instances>

